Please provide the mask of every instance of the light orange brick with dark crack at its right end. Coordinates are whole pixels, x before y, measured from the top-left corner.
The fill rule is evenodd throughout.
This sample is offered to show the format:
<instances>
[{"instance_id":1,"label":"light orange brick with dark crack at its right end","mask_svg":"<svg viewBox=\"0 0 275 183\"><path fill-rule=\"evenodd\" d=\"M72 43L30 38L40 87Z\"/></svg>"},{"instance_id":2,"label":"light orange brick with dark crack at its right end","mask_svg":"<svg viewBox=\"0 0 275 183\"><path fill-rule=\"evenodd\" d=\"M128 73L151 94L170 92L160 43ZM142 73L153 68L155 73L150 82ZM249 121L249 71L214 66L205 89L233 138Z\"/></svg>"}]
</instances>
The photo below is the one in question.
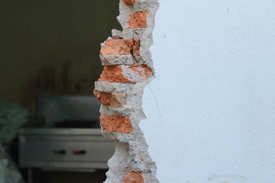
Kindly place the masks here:
<instances>
[{"instance_id":1,"label":"light orange brick with dark crack at its right end","mask_svg":"<svg viewBox=\"0 0 275 183\"><path fill-rule=\"evenodd\" d=\"M100 49L100 55L139 55L140 40L109 39Z\"/></svg>"}]
</instances>

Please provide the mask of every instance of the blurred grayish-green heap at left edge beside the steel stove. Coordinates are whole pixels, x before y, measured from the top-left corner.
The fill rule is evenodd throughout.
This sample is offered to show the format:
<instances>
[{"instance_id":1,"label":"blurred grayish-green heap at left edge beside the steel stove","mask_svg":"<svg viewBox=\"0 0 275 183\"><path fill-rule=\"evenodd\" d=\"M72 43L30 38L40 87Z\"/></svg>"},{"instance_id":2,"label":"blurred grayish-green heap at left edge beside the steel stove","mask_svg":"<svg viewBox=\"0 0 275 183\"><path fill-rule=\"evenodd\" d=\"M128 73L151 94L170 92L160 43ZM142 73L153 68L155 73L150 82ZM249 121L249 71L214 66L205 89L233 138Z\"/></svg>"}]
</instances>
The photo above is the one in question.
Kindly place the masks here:
<instances>
[{"instance_id":1,"label":"blurred grayish-green heap at left edge beside the steel stove","mask_svg":"<svg viewBox=\"0 0 275 183\"><path fill-rule=\"evenodd\" d=\"M28 121L29 110L0 97L0 143L10 143Z\"/></svg>"}]
</instances>

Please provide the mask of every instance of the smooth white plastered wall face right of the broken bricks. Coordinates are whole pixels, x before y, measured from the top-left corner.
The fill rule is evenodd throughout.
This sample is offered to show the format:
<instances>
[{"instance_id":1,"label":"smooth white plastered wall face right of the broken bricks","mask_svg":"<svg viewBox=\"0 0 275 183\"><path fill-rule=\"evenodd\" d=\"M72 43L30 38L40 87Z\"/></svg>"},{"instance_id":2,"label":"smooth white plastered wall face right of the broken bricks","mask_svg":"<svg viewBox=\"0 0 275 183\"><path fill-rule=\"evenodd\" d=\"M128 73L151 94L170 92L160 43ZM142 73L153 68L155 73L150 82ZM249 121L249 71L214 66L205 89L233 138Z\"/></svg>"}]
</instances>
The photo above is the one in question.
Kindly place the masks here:
<instances>
[{"instance_id":1,"label":"smooth white plastered wall face right of the broken bricks","mask_svg":"<svg viewBox=\"0 0 275 183\"><path fill-rule=\"evenodd\" d=\"M163 183L275 182L275 1L159 0L141 122Z\"/></svg>"}]
</instances>

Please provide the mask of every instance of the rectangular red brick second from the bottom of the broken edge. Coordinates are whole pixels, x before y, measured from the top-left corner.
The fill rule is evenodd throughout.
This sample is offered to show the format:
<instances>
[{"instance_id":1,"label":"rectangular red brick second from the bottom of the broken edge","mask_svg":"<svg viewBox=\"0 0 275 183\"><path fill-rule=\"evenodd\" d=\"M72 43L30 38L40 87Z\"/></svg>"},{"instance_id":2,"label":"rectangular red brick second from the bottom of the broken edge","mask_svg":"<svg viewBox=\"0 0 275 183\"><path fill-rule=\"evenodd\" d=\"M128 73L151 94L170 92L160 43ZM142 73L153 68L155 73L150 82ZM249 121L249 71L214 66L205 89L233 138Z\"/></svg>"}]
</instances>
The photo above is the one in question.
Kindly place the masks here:
<instances>
[{"instance_id":1,"label":"rectangular red brick second from the bottom of the broken edge","mask_svg":"<svg viewBox=\"0 0 275 183\"><path fill-rule=\"evenodd\" d=\"M100 116L100 123L103 131L120 132L122 134L131 134L133 132L129 117L102 114Z\"/></svg>"}]
</instances>

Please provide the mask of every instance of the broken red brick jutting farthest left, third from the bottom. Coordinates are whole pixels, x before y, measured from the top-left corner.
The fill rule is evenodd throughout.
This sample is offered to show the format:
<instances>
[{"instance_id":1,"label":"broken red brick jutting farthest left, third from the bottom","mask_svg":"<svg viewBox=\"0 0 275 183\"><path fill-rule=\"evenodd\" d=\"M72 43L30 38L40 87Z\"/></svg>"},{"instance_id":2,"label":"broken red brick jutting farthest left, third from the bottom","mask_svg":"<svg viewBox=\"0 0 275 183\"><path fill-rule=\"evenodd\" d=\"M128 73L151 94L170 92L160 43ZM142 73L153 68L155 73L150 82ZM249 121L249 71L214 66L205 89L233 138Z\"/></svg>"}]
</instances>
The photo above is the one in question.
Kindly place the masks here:
<instances>
[{"instance_id":1,"label":"broken red brick jutting farthest left, third from the bottom","mask_svg":"<svg viewBox=\"0 0 275 183\"><path fill-rule=\"evenodd\" d=\"M126 104L126 93L106 93L94 90L94 95L106 106L122 108Z\"/></svg>"}]
</instances>

